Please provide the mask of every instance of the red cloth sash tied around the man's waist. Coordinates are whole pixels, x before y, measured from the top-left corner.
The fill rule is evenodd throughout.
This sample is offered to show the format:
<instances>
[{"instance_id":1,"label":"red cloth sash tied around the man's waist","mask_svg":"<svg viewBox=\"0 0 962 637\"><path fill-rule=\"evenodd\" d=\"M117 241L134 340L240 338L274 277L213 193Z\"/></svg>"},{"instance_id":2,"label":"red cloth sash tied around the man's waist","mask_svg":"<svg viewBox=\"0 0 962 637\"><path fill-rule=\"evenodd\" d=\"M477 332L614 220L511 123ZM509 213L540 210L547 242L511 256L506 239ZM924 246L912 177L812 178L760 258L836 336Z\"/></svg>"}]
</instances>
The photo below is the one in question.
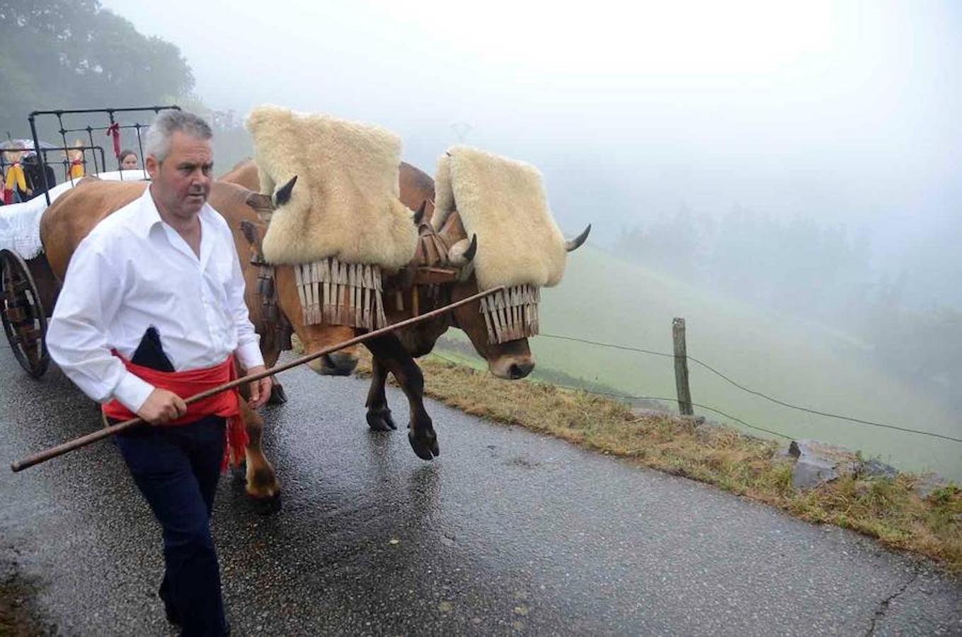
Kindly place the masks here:
<instances>
[{"instance_id":1,"label":"red cloth sash tied around the man's waist","mask_svg":"<svg viewBox=\"0 0 962 637\"><path fill-rule=\"evenodd\" d=\"M157 369L145 368L135 365L126 358L114 351L114 356L119 358L128 371L150 383L154 387L173 392L182 398L190 398L192 395L214 389L218 385L229 383L235 380L237 369L234 367L234 355L211 368L190 369L188 371L158 371ZM240 466L244 457L244 447L247 446L247 430L244 429L241 420L241 408L238 401L241 395L238 391L221 392L198 400L187 406L187 414L177 420L170 420L161 426L178 426L190 424L200 420L205 416L220 416L227 420L227 427L224 432L224 460L221 470L227 469L228 461L233 461L234 466ZM130 420L136 418L137 414L131 413L116 398L103 405L104 415L114 420Z\"/></svg>"}]
</instances>

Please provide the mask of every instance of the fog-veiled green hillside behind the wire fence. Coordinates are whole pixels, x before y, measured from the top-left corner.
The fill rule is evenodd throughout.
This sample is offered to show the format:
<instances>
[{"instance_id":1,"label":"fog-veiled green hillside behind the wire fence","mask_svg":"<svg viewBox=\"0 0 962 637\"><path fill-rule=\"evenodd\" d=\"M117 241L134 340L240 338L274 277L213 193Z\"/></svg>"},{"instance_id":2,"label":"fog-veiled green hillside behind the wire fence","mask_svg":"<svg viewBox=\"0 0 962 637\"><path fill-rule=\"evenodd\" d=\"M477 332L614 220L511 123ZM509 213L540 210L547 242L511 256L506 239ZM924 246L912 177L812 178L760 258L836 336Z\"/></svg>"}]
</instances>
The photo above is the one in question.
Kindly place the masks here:
<instances>
[{"instance_id":1,"label":"fog-veiled green hillside behind the wire fence","mask_svg":"<svg viewBox=\"0 0 962 637\"><path fill-rule=\"evenodd\" d=\"M543 291L540 314L544 334L660 352L671 352L671 318L683 317L689 355L750 389L824 412L962 438L962 423L944 405L873 369L855 339L761 312L591 246L570 255L564 281ZM532 348L542 373L560 371L628 395L675 395L671 358L544 336ZM802 413L749 395L695 364L690 371L696 403L793 438L859 449L903 471L962 479L960 443ZM696 414L742 427L705 409L696 407Z\"/></svg>"}]
</instances>

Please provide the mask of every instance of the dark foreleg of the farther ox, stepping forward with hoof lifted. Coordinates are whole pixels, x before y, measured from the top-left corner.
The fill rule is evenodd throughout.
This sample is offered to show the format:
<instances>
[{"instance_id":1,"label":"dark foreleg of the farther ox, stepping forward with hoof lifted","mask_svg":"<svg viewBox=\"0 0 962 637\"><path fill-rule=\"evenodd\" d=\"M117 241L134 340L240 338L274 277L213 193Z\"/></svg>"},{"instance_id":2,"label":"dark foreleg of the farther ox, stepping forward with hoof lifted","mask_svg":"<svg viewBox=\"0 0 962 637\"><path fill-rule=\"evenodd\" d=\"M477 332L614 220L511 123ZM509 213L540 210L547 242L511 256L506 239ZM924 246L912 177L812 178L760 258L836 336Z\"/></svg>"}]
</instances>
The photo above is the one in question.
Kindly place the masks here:
<instances>
[{"instance_id":1,"label":"dark foreleg of the farther ox, stepping forward with hoof lifted","mask_svg":"<svg viewBox=\"0 0 962 637\"><path fill-rule=\"evenodd\" d=\"M385 369L394 374L397 384L408 397L411 420L408 423L408 442L421 460L431 460L439 455L438 436L434 432L431 417L424 409L424 374L404 345L393 334L372 339L365 343L375 359L380 359ZM383 390L382 390L383 391Z\"/></svg>"}]
</instances>

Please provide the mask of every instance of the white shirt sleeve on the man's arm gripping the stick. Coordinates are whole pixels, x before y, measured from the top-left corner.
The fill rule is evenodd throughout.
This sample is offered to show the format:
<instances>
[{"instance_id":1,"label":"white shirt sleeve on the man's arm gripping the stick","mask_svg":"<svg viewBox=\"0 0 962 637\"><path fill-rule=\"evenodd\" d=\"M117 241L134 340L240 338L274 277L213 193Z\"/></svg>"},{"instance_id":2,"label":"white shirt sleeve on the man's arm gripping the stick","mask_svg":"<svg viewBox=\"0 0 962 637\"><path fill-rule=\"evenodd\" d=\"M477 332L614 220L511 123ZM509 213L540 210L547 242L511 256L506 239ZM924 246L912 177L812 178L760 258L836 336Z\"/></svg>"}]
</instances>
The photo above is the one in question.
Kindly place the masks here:
<instances>
[{"instance_id":1,"label":"white shirt sleeve on the man's arm gripping the stick","mask_svg":"<svg viewBox=\"0 0 962 637\"><path fill-rule=\"evenodd\" d=\"M122 272L112 268L104 246L81 242L70 260L46 344L51 358L84 394L101 403L115 397L137 413L154 387L111 353L105 328L123 296Z\"/></svg>"}]
</instances>

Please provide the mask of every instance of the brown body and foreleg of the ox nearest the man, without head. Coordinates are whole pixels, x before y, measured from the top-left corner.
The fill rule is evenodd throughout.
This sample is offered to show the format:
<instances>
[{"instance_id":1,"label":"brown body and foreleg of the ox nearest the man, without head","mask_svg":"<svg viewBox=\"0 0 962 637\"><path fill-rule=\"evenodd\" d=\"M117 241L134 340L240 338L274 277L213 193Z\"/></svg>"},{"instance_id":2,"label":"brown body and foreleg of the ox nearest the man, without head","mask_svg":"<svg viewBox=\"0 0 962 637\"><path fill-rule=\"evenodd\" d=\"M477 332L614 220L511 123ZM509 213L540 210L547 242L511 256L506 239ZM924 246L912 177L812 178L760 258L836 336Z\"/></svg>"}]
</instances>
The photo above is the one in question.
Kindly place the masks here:
<instances>
[{"instance_id":1,"label":"brown body and foreleg of the ox nearest the man, without head","mask_svg":"<svg viewBox=\"0 0 962 637\"><path fill-rule=\"evenodd\" d=\"M76 188L64 192L40 219L40 240L47 261L60 281L66 272L70 256L90 230L103 218L137 199L146 188L145 182L108 182L85 179ZM210 203L231 226L237 245L241 266L245 266L247 285L246 301L251 320L260 321L260 300L257 298L256 282L252 282L246 268L248 243L241 235L242 220L257 221L257 214L247 203L252 193L233 184L215 183L211 188ZM256 273L255 273L256 277ZM333 343L333 341L332 341ZM269 348L268 348L269 351ZM272 366L277 359L267 361ZM246 388L243 388L246 392ZM250 437L246 449L247 494L250 497L276 505L280 483L273 467L267 462L261 449L264 420L241 400L241 418Z\"/></svg>"}]
</instances>

